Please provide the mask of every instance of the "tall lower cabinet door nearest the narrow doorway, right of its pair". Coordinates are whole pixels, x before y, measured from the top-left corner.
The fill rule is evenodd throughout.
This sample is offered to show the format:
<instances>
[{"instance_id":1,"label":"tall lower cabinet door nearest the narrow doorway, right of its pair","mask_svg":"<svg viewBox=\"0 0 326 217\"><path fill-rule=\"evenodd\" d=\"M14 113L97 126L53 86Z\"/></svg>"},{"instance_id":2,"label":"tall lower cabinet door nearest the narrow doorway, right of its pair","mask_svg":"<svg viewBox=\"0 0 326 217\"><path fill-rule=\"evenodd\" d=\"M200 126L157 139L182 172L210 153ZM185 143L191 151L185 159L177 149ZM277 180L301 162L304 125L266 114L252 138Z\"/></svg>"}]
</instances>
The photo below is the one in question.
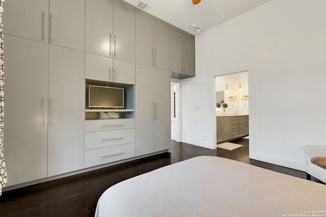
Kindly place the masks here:
<instances>
[{"instance_id":1,"label":"tall lower cabinet door nearest the narrow doorway, right of its pair","mask_svg":"<svg viewBox=\"0 0 326 217\"><path fill-rule=\"evenodd\" d=\"M170 72L154 69L154 152L171 144Z\"/></svg>"}]
</instances>

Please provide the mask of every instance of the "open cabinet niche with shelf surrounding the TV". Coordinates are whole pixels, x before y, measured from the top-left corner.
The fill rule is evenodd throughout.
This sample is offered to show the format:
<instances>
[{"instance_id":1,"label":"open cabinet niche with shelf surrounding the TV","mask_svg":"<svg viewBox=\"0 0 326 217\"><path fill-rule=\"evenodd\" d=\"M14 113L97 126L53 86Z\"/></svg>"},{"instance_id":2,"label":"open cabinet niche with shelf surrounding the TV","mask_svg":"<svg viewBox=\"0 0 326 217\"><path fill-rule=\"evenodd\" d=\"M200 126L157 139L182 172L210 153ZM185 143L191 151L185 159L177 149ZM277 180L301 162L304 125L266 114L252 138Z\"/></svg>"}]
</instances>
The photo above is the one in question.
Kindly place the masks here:
<instances>
[{"instance_id":1,"label":"open cabinet niche with shelf surrounding the TV","mask_svg":"<svg viewBox=\"0 0 326 217\"><path fill-rule=\"evenodd\" d=\"M98 87L105 90L110 89L123 89L123 95L119 92L121 96L114 96L114 98L118 97L123 98L123 106L116 107L112 105L110 107L110 103L106 105L106 107L99 107L97 105L89 105L90 99L95 97L109 97L105 95L94 95L89 94L89 87ZM109 87L109 88L107 88ZM108 95L114 94L114 92L106 93ZM98 99L101 100L101 99ZM94 100L91 99L94 102ZM98 80L90 80L86 79L85 85L85 119L86 120L93 120L93 119L118 119L118 118L134 118L134 85L133 84L124 84L124 83L117 83L117 82L108 82L108 81L98 81ZM106 117L106 118L105 118ZM113 118L112 118L113 117Z\"/></svg>"}]
</instances>

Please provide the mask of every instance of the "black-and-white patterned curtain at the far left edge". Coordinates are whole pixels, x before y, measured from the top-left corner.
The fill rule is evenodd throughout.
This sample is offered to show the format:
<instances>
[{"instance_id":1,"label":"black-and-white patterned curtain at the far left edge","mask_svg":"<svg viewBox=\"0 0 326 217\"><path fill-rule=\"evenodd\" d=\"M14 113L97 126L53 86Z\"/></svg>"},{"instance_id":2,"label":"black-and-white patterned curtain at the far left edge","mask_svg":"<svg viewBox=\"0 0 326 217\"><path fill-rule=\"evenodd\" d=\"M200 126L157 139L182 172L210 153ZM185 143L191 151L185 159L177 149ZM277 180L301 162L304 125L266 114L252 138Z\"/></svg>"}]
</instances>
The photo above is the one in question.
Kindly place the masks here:
<instances>
[{"instance_id":1,"label":"black-and-white patterned curtain at the far left edge","mask_svg":"<svg viewBox=\"0 0 326 217\"><path fill-rule=\"evenodd\" d=\"M2 15L4 13L5 0L0 0L0 196L2 189L8 182L4 156L4 91L5 91L5 69L4 69L4 26Z\"/></svg>"}]
</instances>

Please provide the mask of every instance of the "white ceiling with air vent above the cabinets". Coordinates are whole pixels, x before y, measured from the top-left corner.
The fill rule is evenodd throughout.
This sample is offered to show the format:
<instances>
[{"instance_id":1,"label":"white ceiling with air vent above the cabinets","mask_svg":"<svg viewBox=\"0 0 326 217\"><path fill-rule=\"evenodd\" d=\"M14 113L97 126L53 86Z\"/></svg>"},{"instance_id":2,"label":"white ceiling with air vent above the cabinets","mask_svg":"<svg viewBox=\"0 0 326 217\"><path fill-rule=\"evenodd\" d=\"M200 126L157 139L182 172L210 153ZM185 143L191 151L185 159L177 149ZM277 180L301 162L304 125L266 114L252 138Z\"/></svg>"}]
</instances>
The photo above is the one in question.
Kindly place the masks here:
<instances>
[{"instance_id":1,"label":"white ceiling with air vent above the cabinets","mask_svg":"<svg viewBox=\"0 0 326 217\"><path fill-rule=\"evenodd\" d=\"M141 0L124 0L137 6ZM246 13L271 0L202 0L193 5L192 0L144 0L151 5L145 11L165 20L186 32L197 35L196 28L203 32L240 14ZM196 27L191 26L195 24Z\"/></svg>"}]
</instances>

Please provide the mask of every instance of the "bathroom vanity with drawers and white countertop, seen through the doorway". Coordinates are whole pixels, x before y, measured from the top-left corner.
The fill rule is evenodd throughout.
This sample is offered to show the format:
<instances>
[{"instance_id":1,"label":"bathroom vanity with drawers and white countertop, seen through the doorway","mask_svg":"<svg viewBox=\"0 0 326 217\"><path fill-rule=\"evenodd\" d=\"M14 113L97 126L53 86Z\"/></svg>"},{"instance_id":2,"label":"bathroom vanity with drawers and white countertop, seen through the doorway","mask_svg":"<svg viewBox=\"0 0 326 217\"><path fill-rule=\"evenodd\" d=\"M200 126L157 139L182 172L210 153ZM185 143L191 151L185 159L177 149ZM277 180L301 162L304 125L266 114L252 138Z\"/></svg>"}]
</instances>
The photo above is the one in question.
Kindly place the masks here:
<instances>
[{"instance_id":1,"label":"bathroom vanity with drawers and white countertop, seen through the doorway","mask_svg":"<svg viewBox=\"0 0 326 217\"><path fill-rule=\"evenodd\" d=\"M216 115L216 141L222 143L249 135L249 115Z\"/></svg>"}]
</instances>

